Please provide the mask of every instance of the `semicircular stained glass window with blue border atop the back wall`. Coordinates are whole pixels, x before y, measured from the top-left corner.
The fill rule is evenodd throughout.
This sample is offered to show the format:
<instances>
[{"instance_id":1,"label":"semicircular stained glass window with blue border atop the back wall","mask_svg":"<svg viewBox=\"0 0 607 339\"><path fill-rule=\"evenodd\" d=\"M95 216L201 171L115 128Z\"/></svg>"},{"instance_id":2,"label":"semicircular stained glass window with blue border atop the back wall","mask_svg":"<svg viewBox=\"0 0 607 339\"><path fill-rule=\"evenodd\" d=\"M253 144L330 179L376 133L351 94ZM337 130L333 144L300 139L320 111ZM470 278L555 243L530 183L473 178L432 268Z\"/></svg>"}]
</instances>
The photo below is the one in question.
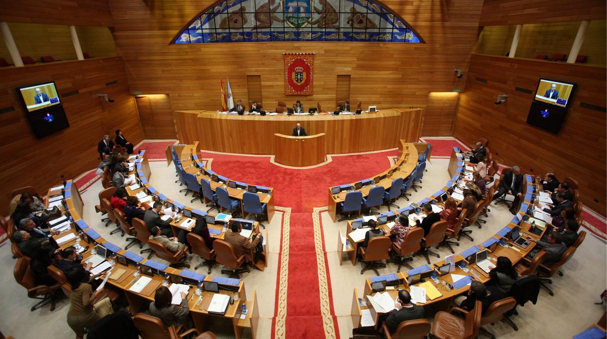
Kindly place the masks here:
<instances>
[{"instance_id":1,"label":"semicircular stained glass window with blue border atop the back wall","mask_svg":"<svg viewBox=\"0 0 607 339\"><path fill-rule=\"evenodd\" d=\"M172 43L271 41L423 42L377 1L222 0L189 22Z\"/></svg>"}]
</instances>

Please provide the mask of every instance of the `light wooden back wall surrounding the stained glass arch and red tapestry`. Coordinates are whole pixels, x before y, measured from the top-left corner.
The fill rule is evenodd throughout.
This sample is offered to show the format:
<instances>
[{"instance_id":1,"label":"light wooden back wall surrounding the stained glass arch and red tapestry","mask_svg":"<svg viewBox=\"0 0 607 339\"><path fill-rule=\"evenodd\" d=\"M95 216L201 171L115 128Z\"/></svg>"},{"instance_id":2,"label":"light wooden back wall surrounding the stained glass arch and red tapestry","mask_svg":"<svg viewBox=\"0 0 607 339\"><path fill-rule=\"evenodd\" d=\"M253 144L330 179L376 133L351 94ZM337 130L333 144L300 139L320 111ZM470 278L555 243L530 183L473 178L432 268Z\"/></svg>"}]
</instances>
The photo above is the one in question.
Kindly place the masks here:
<instances>
[{"instance_id":1,"label":"light wooden back wall surrounding the stained glass arch and red tapestry","mask_svg":"<svg viewBox=\"0 0 607 339\"><path fill-rule=\"evenodd\" d=\"M110 0L114 36L131 90L171 96L174 110L217 110L219 79L229 76L234 98L246 98L246 75L261 75L263 104L333 107L336 76L350 74L350 100L379 109L426 107L429 92L463 88L476 45L482 0L385 0L426 44L269 42L171 45L175 34L214 1ZM314 95L285 97L283 52L316 53Z\"/></svg>"}]
</instances>

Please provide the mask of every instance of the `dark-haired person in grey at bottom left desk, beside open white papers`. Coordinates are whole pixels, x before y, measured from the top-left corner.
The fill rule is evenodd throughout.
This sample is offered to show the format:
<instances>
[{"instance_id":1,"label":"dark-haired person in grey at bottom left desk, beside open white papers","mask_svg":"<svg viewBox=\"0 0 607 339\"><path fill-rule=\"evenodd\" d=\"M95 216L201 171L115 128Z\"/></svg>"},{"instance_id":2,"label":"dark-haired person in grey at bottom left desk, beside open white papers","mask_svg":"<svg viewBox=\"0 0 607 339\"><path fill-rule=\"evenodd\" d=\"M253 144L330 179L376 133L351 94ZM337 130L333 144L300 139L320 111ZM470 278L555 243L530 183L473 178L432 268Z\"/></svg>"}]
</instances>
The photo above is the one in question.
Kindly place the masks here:
<instances>
[{"instance_id":1,"label":"dark-haired person in grey at bottom left desk, beside open white papers","mask_svg":"<svg viewBox=\"0 0 607 339\"><path fill-rule=\"evenodd\" d=\"M181 303L172 304L173 295L166 286L160 286L154 294L154 301L149 305L150 315L159 318L164 327L189 323L188 294L181 292ZM190 326L191 327L191 326Z\"/></svg>"}]
</instances>

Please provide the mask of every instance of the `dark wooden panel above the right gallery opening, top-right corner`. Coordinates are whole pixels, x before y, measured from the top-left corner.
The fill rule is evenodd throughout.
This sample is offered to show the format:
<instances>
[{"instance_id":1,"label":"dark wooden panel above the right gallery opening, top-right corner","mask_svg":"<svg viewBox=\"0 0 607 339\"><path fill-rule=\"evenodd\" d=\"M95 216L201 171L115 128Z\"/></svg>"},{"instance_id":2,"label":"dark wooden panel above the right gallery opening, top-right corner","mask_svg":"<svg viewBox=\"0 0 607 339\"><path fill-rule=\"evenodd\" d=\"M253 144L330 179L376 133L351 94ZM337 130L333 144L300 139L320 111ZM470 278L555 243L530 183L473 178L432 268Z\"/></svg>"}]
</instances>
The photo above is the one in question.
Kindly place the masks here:
<instances>
[{"instance_id":1,"label":"dark wooden panel above the right gallery opening, top-right corner","mask_svg":"<svg viewBox=\"0 0 607 339\"><path fill-rule=\"evenodd\" d=\"M485 0L481 26L605 19L605 0Z\"/></svg>"}]
</instances>

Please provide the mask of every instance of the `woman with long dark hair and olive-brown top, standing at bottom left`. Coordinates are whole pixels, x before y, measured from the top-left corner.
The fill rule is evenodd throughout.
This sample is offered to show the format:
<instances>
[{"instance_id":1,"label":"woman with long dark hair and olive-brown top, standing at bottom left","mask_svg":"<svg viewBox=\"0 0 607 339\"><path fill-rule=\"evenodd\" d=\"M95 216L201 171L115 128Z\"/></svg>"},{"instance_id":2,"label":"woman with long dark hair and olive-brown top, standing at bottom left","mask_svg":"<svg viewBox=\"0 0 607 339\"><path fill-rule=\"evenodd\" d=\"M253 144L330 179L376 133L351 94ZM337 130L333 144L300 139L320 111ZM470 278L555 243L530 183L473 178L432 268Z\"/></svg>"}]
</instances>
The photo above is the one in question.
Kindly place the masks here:
<instances>
[{"instance_id":1,"label":"woman with long dark hair and olive-brown top, standing at bottom left","mask_svg":"<svg viewBox=\"0 0 607 339\"><path fill-rule=\"evenodd\" d=\"M101 275L106 274L109 272ZM89 284L89 274L84 270L70 269L66 276L72 287L67 324L76 333L76 339L81 339L84 337L84 327L91 327L101 319L93 307L99 301L101 290L93 292L93 287Z\"/></svg>"}]
</instances>

